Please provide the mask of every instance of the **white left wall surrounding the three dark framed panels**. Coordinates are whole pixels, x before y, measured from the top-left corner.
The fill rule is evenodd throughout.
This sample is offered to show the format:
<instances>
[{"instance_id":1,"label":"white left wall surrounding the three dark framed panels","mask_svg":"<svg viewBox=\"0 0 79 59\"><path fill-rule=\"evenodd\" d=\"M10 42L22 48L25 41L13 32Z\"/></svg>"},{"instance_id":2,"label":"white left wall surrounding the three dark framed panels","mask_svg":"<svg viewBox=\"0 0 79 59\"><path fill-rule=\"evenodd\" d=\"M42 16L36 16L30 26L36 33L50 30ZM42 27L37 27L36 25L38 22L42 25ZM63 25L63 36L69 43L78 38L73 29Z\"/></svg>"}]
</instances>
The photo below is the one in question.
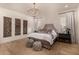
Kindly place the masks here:
<instances>
[{"instance_id":1,"label":"white left wall surrounding the three dark framed panels","mask_svg":"<svg viewBox=\"0 0 79 59\"><path fill-rule=\"evenodd\" d=\"M3 16L12 18L12 36L11 37L3 37ZM15 36L15 18L21 19L21 35ZM23 20L28 21L28 33L32 32L33 28L33 18L26 16L25 14L18 13L16 11L11 11L8 9L0 8L0 43L5 43L17 39L26 38L26 34L23 35Z\"/></svg>"}]
</instances>

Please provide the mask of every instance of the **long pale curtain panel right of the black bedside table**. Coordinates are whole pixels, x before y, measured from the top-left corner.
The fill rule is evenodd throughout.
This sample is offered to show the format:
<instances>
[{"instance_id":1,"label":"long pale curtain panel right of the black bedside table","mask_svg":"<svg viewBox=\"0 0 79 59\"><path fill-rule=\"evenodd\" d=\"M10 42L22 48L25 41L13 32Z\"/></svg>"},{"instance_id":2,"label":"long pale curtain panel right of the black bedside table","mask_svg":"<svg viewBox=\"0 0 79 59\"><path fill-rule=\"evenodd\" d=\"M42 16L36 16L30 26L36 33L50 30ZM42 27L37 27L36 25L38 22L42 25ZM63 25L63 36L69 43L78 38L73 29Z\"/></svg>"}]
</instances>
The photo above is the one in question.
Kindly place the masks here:
<instances>
[{"instance_id":1,"label":"long pale curtain panel right of the black bedside table","mask_svg":"<svg viewBox=\"0 0 79 59\"><path fill-rule=\"evenodd\" d=\"M67 27L71 29L71 41L72 43L76 43L75 38L75 14L74 12L67 13Z\"/></svg>"}]
</instances>

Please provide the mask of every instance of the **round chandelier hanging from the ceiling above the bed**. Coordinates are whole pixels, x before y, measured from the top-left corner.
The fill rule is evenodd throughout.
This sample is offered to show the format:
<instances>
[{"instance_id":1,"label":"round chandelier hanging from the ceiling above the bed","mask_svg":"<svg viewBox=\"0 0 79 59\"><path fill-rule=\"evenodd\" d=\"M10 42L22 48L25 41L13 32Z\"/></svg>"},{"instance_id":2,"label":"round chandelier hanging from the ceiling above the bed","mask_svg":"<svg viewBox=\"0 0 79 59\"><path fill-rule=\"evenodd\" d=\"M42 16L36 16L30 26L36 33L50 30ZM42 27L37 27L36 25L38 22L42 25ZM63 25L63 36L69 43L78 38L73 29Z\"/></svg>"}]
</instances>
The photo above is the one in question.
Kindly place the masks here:
<instances>
[{"instance_id":1,"label":"round chandelier hanging from the ceiling above the bed","mask_svg":"<svg viewBox=\"0 0 79 59\"><path fill-rule=\"evenodd\" d=\"M37 18L39 16L39 9L36 8L36 3L33 3L33 7L27 10L28 15Z\"/></svg>"}]
</instances>

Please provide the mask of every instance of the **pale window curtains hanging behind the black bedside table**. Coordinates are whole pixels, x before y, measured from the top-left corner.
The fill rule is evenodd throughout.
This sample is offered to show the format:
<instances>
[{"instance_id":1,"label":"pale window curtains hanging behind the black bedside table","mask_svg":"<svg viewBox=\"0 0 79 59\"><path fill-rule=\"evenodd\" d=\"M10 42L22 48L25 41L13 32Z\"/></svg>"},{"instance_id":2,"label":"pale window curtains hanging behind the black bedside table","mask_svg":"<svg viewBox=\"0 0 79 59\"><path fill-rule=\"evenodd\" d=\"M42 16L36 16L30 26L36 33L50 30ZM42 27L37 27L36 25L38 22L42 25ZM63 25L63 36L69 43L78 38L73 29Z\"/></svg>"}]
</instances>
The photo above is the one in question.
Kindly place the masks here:
<instances>
[{"instance_id":1,"label":"pale window curtains hanging behind the black bedside table","mask_svg":"<svg viewBox=\"0 0 79 59\"><path fill-rule=\"evenodd\" d=\"M60 17L60 24L61 24L61 32L65 33L66 28L70 29L71 34L71 42L76 43L75 38L75 12L68 12L61 14Z\"/></svg>"}]
</instances>

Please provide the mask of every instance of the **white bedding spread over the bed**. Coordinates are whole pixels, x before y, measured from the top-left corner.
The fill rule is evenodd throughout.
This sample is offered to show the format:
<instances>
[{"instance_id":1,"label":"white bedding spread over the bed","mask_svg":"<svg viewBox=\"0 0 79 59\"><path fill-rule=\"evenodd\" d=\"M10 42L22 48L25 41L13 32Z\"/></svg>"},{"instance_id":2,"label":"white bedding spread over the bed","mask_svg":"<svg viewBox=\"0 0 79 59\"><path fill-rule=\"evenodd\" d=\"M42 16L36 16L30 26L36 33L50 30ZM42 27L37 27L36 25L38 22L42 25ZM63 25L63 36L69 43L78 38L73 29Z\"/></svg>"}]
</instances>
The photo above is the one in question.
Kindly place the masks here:
<instances>
[{"instance_id":1,"label":"white bedding spread over the bed","mask_svg":"<svg viewBox=\"0 0 79 59\"><path fill-rule=\"evenodd\" d=\"M47 33L31 33L29 35L27 35L27 37L33 37L33 38L37 38L40 40L46 40L50 43L50 45L53 44L53 40L57 37L57 35L53 35L54 38L52 38L51 34L47 34Z\"/></svg>"}]
</instances>

